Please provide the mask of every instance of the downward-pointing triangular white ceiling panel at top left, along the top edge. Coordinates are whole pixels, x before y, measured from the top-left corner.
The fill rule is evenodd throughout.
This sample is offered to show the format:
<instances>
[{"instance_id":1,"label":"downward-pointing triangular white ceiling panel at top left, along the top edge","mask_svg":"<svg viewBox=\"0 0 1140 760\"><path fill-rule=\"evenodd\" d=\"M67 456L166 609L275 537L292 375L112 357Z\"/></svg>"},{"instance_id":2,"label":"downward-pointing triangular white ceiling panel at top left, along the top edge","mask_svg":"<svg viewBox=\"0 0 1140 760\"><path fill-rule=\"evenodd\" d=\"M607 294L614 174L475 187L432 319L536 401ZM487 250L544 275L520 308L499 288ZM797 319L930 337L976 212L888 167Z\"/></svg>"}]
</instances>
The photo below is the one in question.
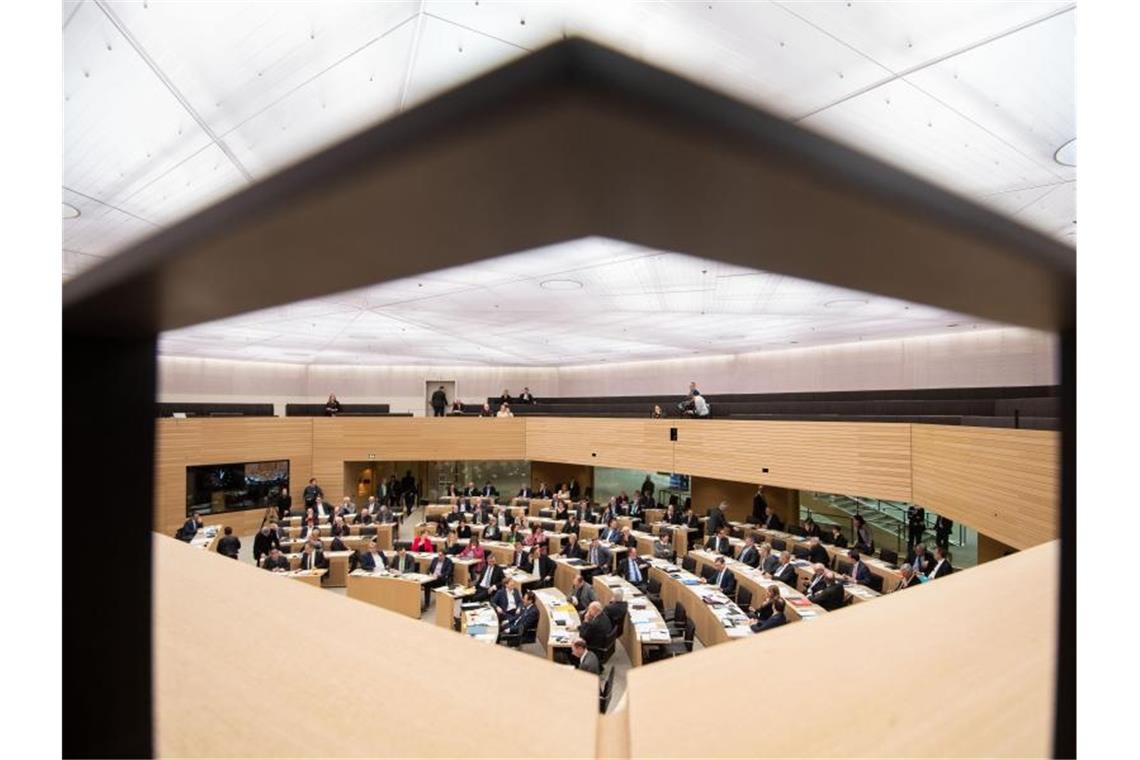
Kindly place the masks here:
<instances>
[{"instance_id":1,"label":"downward-pointing triangular white ceiling panel at top left, along the top edge","mask_svg":"<svg viewBox=\"0 0 1140 760\"><path fill-rule=\"evenodd\" d=\"M412 0L113 3L218 134L410 23L418 7Z\"/></svg>"}]
</instances>

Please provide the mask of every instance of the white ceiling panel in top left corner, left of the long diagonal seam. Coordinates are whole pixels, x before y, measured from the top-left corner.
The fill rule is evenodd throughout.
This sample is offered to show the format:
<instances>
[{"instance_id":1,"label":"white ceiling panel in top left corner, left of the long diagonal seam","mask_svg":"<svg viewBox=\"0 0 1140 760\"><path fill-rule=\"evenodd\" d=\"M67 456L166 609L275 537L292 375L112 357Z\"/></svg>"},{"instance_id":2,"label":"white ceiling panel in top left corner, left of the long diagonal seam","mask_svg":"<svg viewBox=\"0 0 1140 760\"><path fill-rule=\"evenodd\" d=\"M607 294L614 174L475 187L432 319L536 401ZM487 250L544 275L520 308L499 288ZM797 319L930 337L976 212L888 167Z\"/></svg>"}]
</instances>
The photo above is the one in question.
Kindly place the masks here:
<instances>
[{"instance_id":1,"label":"white ceiling panel in top left corner, left of the long diagonal seam","mask_svg":"<svg viewBox=\"0 0 1140 760\"><path fill-rule=\"evenodd\" d=\"M210 138L93 2L64 30L64 186L116 205Z\"/></svg>"}]
</instances>

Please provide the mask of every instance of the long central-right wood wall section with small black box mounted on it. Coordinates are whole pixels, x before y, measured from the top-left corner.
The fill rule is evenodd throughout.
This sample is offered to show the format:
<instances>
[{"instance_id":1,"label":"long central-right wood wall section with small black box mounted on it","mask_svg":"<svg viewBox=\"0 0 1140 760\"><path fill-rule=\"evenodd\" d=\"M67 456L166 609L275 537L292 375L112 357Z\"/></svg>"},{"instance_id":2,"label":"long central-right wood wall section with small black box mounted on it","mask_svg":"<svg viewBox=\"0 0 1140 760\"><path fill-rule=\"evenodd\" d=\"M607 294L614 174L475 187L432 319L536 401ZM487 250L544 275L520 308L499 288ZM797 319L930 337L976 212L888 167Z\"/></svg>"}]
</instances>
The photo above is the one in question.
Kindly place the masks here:
<instances>
[{"instance_id":1,"label":"long central-right wood wall section with small black box mounted on it","mask_svg":"<svg viewBox=\"0 0 1140 760\"><path fill-rule=\"evenodd\" d=\"M678 428L675 443L670 427ZM527 420L527 456L911 498L911 426L901 423L534 417Z\"/></svg>"}]
</instances>

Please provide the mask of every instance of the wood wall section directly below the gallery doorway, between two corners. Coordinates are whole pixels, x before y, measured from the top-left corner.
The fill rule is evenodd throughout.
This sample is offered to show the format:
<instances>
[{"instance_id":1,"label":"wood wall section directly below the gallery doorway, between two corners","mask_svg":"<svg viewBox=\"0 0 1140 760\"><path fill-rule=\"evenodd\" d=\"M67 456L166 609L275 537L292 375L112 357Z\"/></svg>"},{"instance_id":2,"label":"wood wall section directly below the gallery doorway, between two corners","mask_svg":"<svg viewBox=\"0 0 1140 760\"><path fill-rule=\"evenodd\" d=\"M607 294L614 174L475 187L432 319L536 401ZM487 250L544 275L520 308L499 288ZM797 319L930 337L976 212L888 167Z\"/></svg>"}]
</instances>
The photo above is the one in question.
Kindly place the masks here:
<instances>
[{"instance_id":1,"label":"wood wall section directly below the gallery doorway, between two corners","mask_svg":"<svg viewBox=\"0 0 1140 760\"><path fill-rule=\"evenodd\" d=\"M526 459L526 425L521 417L316 417L312 475L326 500L340 501L345 461Z\"/></svg>"}]
</instances>

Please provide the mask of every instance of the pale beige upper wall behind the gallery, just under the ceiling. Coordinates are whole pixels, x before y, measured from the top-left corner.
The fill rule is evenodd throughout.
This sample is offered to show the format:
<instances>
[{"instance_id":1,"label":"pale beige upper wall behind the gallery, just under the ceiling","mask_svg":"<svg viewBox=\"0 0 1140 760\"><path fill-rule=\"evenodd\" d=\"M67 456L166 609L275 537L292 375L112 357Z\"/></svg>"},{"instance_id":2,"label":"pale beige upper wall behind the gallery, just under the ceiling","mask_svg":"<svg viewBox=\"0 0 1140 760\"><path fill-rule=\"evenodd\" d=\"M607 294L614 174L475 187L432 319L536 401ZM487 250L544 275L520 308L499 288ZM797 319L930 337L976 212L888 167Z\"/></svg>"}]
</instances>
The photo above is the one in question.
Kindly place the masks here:
<instances>
[{"instance_id":1,"label":"pale beige upper wall behind the gallery, just under the ceiling","mask_svg":"<svg viewBox=\"0 0 1140 760\"><path fill-rule=\"evenodd\" d=\"M1052 336L1020 328L865 341L725 357L583 367L306 366L223 359L158 358L160 401L389 403L424 412L424 383L455 379L473 403L529 385L536 397L681 395L689 381L706 393L1049 385L1058 382Z\"/></svg>"}]
</instances>

